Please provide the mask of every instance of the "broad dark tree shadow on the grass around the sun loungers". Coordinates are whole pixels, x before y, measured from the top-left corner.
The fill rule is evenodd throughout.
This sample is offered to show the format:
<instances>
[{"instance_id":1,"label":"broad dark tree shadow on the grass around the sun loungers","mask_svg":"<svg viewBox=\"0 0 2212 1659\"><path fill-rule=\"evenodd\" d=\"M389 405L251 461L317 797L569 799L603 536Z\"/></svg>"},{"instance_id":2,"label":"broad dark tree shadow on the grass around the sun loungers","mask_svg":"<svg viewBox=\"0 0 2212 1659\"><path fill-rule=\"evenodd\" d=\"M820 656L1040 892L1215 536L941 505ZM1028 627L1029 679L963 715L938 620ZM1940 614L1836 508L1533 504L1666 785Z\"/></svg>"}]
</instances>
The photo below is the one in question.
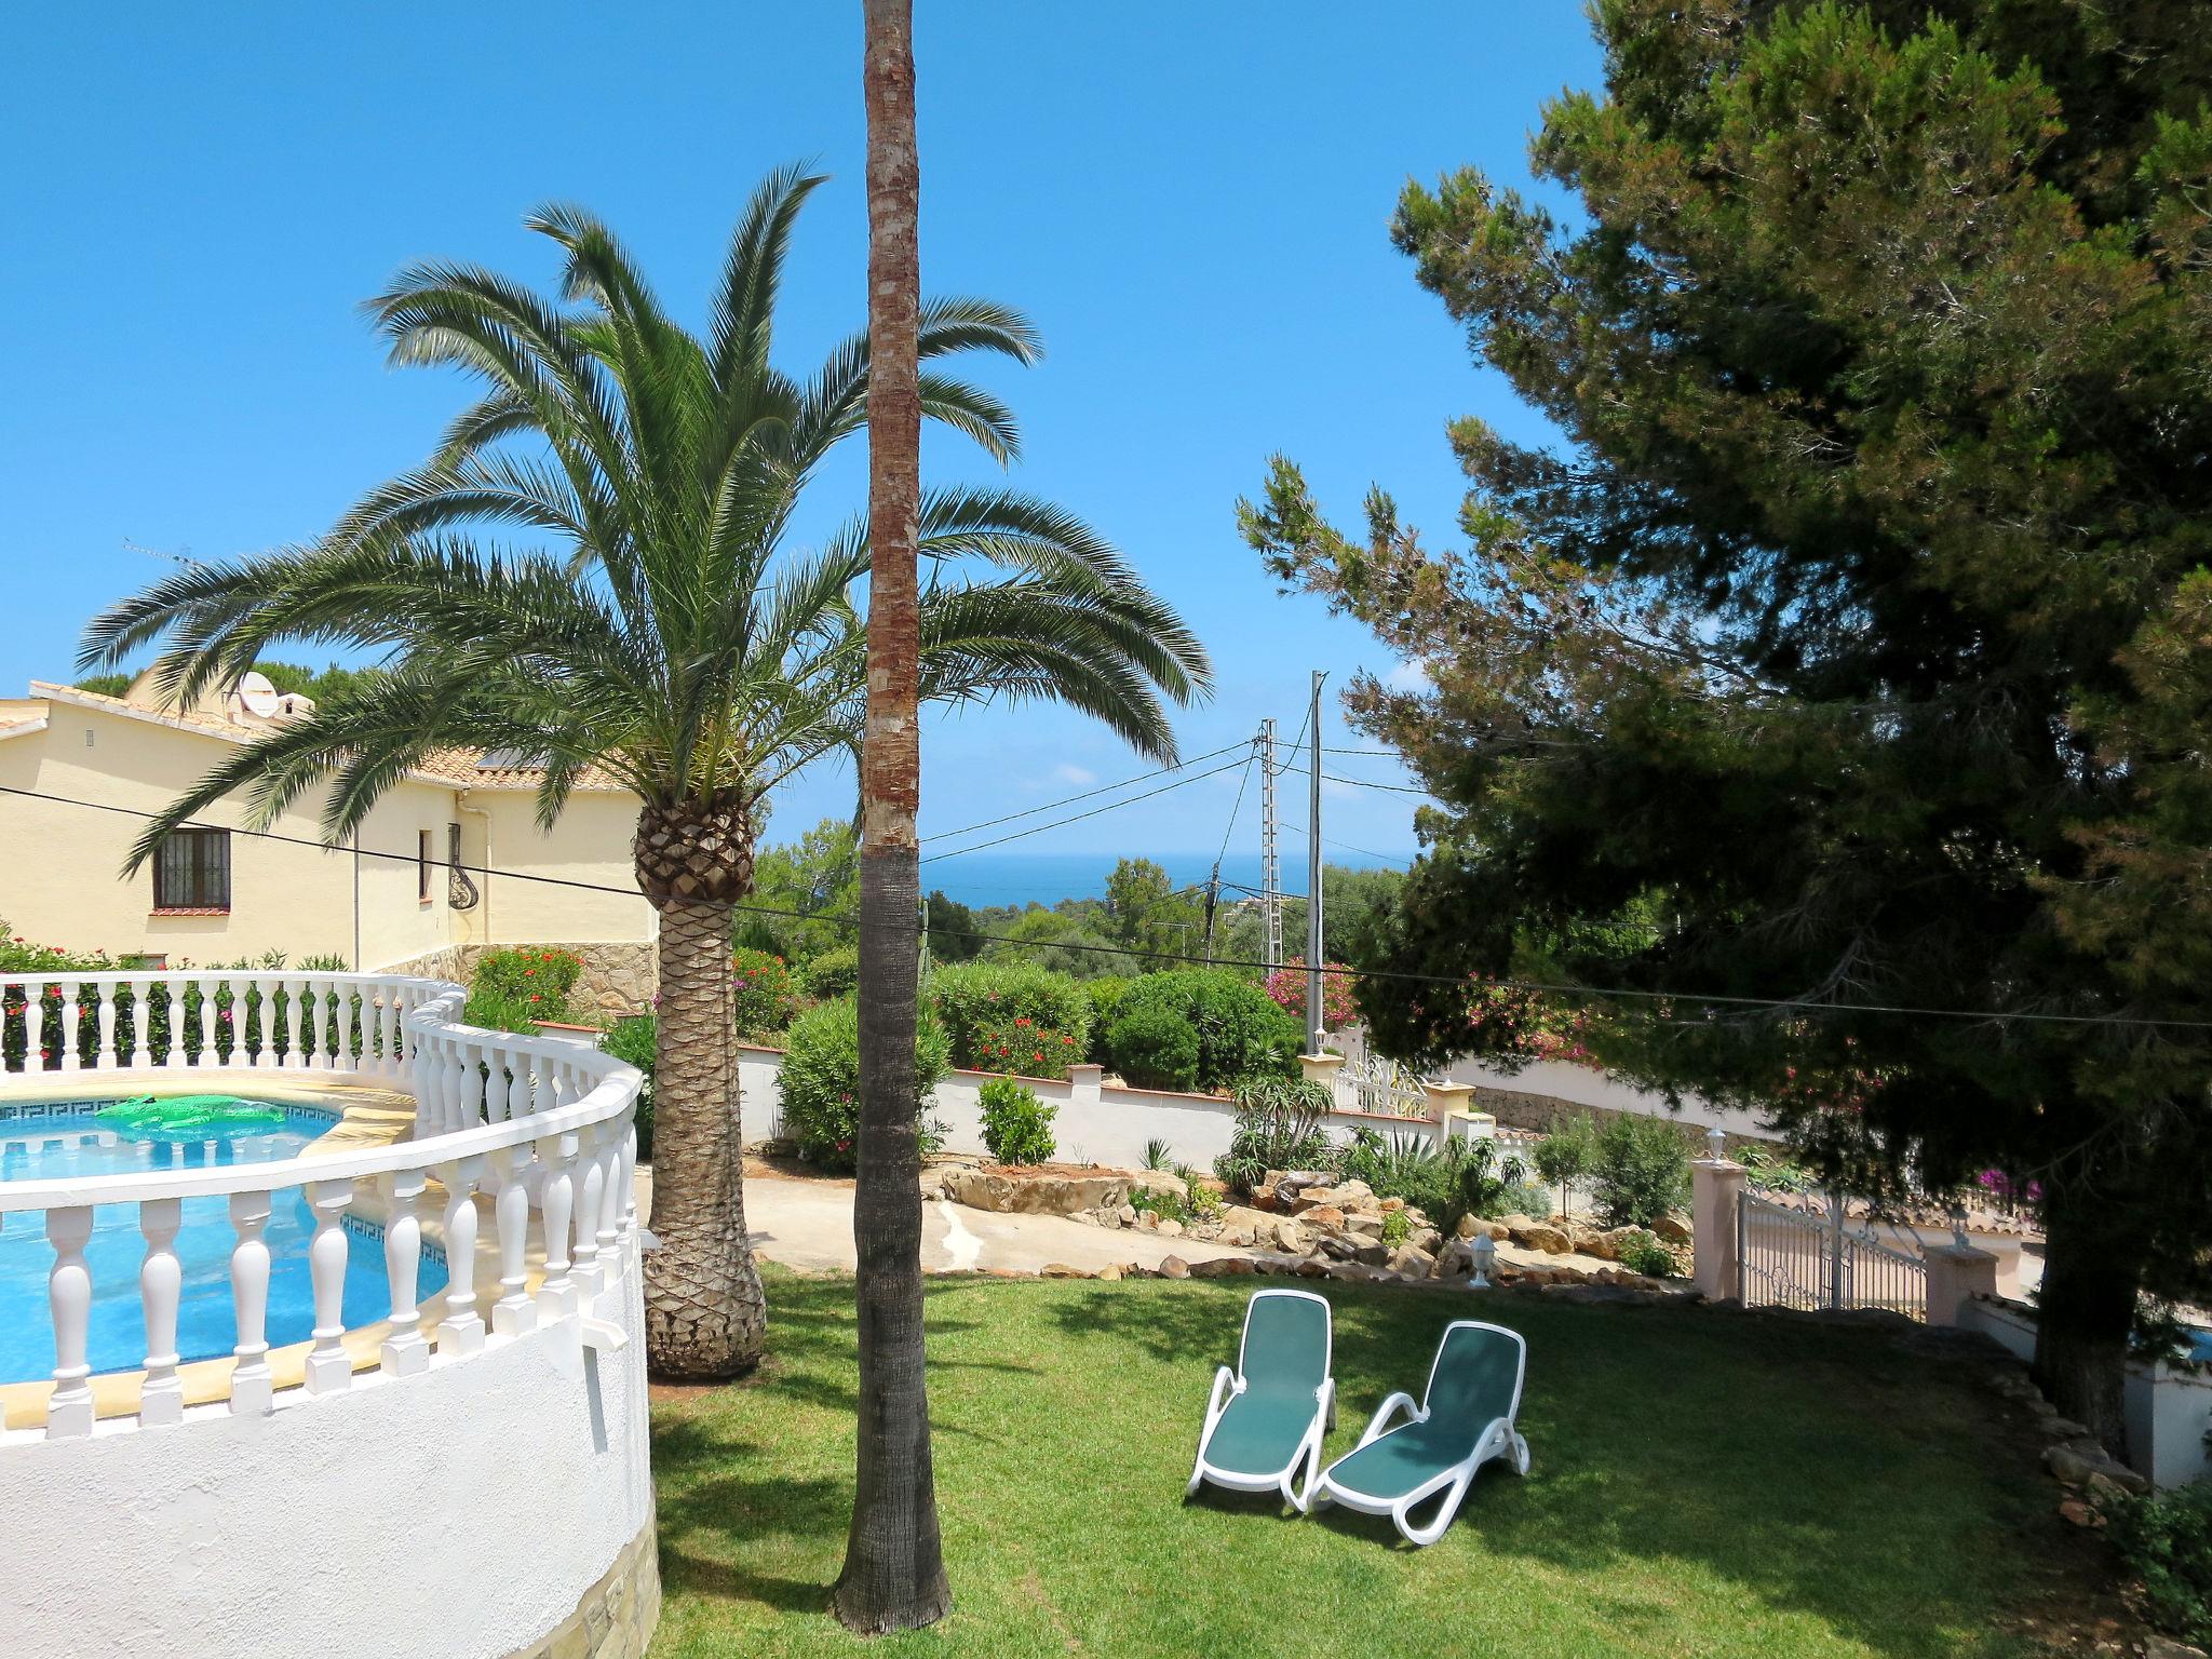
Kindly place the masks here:
<instances>
[{"instance_id":1,"label":"broad dark tree shadow on the grass around the sun loungers","mask_svg":"<svg viewBox=\"0 0 2212 1659\"><path fill-rule=\"evenodd\" d=\"M1624 1637L1672 1617L1670 1586L1652 1584L1670 1562L1699 1562L1770 1606L1900 1657L1949 1652L1964 1630L2011 1624L2031 1601L2093 1582L2073 1551L2057 1586L2037 1584L2053 1566L2039 1557L2075 1540L2057 1537L2031 1453L1966 1367L1907 1354L1885 1332L1500 1292L1314 1287L1334 1305L1329 1458L1358 1442L1385 1394L1420 1396L1449 1321L1522 1332L1520 1427L1533 1471L1517 1480L1484 1467L1458 1526L1480 1531L1493 1555L1575 1573L1586 1588L1595 1577L1595 1606ZM1248 1290L1093 1290L1053 1307L1071 1347L1097 1340L1188 1369L1188 1422L1175 1425L1159 1469L1139 1473L1146 1484L1172 1475L1179 1493L1186 1436L1194 1444L1214 1367L1237 1358ZM1420 1555L1383 1517L1325 1509L1314 1520L1347 1546ZM1431 1553L1451 1551L1458 1526ZM1993 1555L2015 1555L2017 1571L1993 1571ZM1641 1586L1621 1571L1630 1564Z\"/></svg>"}]
</instances>

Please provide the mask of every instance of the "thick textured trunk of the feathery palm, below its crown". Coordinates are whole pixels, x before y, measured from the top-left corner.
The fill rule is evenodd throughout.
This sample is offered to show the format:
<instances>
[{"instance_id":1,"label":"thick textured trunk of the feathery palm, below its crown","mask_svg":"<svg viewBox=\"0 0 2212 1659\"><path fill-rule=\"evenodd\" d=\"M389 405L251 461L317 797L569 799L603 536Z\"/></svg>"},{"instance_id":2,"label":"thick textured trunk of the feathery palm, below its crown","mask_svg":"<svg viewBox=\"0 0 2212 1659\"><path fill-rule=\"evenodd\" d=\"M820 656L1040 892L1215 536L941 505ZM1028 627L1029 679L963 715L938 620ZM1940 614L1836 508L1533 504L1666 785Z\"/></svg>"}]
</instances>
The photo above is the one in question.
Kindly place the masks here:
<instances>
[{"instance_id":1,"label":"thick textured trunk of the feathery palm, below its crown","mask_svg":"<svg viewBox=\"0 0 2212 1659\"><path fill-rule=\"evenodd\" d=\"M668 1378L737 1376L761 1358L768 1301L739 1179L730 905L664 896L657 909L650 1225L659 1248L644 1259L646 1363Z\"/></svg>"}]
</instances>

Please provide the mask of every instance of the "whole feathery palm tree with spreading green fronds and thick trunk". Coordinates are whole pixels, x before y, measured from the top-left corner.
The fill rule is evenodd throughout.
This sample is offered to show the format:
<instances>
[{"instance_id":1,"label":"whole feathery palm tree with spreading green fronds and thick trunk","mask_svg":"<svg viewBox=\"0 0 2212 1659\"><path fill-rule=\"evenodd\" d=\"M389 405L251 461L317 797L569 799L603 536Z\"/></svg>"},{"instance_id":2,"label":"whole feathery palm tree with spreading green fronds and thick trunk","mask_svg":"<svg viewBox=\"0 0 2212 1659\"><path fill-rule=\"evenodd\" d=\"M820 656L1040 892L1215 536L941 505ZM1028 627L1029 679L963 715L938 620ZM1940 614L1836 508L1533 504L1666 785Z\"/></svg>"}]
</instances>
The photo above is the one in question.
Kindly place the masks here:
<instances>
[{"instance_id":1,"label":"whole feathery palm tree with spreading green fronds and thick trunk","mask_svg":"<svg viewBox=\"0 0 2212 1659\"><path fill-rule=\"evenodd\" d=\"M653 1230L646 1343L664 1376L730 1376L763 1347L765 1303L739 1183L730 1000L732 907L752 883L763 799L860 743L867 653L854 591L865 515L821 546L787 524L823 456L860 431L869 343L796 380L770 363L792 223L821 184L796 168L752 197L706 336L679 327L615 237L575 208L529 226L564 257L560 299L487 270L427 263L369 303L394 363L465 369L478 403L436 453L361 498L316 542L195 566L86 630L80 661L148 644L184 703L232 684L279 639L380 648L387 672L270 732L148 823L243 792L265 823L327 781L332 845L440 748L511 748L544 765L538 821L597 768L633 790L637 885L659 914ZM989 301L918 316L918 358L1026 363L1029 323ZM991 456L1011 411L925 369L920 409ZM522 546L487 540L507 529ZM1053 699L1150 757L1172 757L1164 699L1206 690L1197 639L1079 520L1004 489L920 502L920 695ZM980 568L978 568L980 566Z\"/></svg>"}]
</instances>

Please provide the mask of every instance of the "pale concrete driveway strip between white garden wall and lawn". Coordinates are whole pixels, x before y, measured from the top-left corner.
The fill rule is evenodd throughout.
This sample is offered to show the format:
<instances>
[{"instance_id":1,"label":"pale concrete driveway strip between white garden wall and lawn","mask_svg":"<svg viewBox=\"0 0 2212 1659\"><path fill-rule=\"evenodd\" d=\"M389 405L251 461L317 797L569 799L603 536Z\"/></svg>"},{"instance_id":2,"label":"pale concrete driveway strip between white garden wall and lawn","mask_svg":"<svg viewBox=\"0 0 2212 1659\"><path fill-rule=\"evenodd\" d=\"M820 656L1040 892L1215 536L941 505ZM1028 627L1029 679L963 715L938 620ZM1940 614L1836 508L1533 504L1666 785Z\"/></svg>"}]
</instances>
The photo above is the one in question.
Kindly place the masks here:
<instances>
[{"instance_id":1,"label":"pale concrete driveway strip between white garden wall and lawn","mask_svg":"<svg viewBox=\"0 0 2212 1659\"><path fill-rule=\"evenodd\" d=\"M637 1170L637 1212L653 1214L653 1170ZM745 1225L752 1248L783 1267L801 1272L852 1272L852 1181L790 1177L759 1166L745 1170ZM1166 1256L1206 1261L1239 1256L1199 1239L1161 1239L1152 1232L1108 1232L1053 1214L995 1214L964 1203L931 1199L922 1208L922 1272L1037 1272L1051 1263L1097 1272L1139 1263L1157 1267Z\"/></svg>"}]
</instances>

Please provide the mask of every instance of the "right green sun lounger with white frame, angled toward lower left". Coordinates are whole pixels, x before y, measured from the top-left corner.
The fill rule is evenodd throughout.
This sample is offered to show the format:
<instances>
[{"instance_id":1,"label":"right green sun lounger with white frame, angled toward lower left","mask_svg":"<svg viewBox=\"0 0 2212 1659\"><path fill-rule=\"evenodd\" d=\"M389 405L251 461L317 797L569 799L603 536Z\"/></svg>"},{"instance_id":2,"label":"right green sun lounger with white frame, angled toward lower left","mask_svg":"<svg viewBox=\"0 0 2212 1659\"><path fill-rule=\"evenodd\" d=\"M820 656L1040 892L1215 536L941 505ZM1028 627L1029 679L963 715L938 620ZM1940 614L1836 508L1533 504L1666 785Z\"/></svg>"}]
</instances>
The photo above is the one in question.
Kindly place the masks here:
<instances>
[{"instance_id":1,"label":"right green sun lounger with white frame, angled toward lower left","mask_svg":"<svg viewBox=\"0 0 2212 1659\"><path fill-rule=\"evenodd\" d=\"M1528 1473L1528 1442L1513 1429L1526 1369L1528 1345L1520 1332L1451 1321L1420 1405L1407 1394L1389 1396L1360 1444L1323 1471L1316 1502L1389 1515L1409 1544L1433 1544L1460 1513L1475 1469L1511 1458L1513 1473ZM1385 1429L1400 1409L1409 1420ZM1431 1500L1436 1515L1416 1524L1413 1511Z\"/></svg>"}]
</instances>

